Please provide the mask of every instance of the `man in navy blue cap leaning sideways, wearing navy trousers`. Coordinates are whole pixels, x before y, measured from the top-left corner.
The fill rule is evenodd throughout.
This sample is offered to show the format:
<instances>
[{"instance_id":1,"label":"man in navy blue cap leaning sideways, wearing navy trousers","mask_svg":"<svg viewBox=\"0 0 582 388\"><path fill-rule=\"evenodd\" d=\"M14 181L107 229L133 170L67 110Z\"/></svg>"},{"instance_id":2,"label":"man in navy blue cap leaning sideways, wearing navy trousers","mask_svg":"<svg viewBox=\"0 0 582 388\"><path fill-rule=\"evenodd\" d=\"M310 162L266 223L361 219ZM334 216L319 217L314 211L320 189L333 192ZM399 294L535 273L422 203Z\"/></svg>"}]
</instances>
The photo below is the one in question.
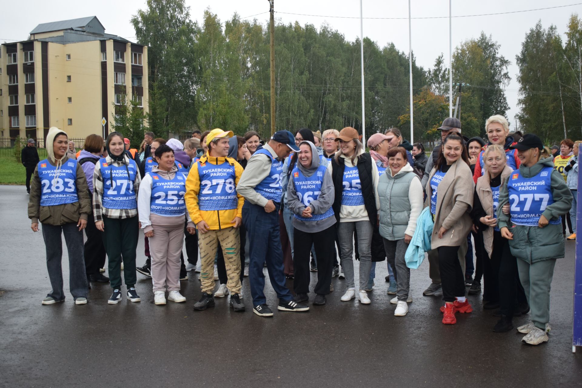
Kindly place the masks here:
<instances>
[{"instance_id":1,"label":"man in navy blue cap leaning sideways, wearing navy trousers","mask_svg":"<svg viewBox=\"0 0 582 388\"><path fill-rule=\"evenodd\" d=\"M277 131L271 140L257 148L249 159L236 191L245 199L243 223L249 238L249 280L253 297L253 312L260 316L273 316L265 298L264 264L271 285L279 298L277 309L282 311L307 311L309 307L293 301L285 286L283 252L279 237L279 208L281 194L282 161L291 151L299 151L295 138L289 131Z\"/></svg>"}]
</instances>

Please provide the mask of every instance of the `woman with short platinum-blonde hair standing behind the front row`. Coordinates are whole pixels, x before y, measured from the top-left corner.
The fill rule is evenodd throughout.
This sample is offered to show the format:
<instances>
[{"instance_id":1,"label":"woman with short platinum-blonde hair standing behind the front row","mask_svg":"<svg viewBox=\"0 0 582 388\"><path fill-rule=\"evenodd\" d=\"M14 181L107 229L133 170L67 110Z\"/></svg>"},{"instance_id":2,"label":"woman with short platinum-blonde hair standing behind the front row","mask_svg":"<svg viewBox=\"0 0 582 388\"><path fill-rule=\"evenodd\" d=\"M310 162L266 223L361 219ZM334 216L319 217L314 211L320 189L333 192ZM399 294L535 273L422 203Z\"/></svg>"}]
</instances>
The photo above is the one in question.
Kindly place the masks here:
<instances>
[{"instance_id":1,"label":"woman with short platinum-blonde hair standing behind the front row","mask_svg":"<svg viewBox=\"0 0 582 388\"><path fill-rule=\"evenodd\" d=\"M519 168L520 160L517 157L517 151L511 148L512 144L516 142L513 137L509 136L509 123L508 120L502 115L494 115L487 119L485 122L485 133L487 133L487 138L489 143L485 144L484 148L487 148L490 144L499 144L505 149L505 154L508 159L508 166L511 169ZM477 183L478 177L482 176L484 173L484 162L483 162L483 151L479 154L479 160L475 164L475 171L473 173L473 181Z\"/></svg>"}]
</instances>

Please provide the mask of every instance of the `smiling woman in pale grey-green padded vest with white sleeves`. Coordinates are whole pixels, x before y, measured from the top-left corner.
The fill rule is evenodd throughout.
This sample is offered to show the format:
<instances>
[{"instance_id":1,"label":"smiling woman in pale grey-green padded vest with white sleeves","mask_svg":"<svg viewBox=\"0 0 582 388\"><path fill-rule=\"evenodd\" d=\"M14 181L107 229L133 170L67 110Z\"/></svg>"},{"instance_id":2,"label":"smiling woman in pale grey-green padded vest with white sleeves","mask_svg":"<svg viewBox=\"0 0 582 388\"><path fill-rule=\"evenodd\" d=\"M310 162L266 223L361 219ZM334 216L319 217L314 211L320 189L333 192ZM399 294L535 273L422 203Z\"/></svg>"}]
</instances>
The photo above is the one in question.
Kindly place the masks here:
<instances>
[{"instance_id":1,"label":"smiling woman in pale grey-green padded vest with white sleeves","mask_svg":"<svg viewBox=\"0 0 582 388\"><path fill-rule=\"evenodd\" d=\"M423 210L423 188L420 179L407 163L406 149L394 147L388 151L386 173L378 181L379 233L382 236L388 263L396 268L395 316L408 313L410 297L410 268L406 266L404 254L410 244L416 220Z\"/></svg>"}]
</instances>

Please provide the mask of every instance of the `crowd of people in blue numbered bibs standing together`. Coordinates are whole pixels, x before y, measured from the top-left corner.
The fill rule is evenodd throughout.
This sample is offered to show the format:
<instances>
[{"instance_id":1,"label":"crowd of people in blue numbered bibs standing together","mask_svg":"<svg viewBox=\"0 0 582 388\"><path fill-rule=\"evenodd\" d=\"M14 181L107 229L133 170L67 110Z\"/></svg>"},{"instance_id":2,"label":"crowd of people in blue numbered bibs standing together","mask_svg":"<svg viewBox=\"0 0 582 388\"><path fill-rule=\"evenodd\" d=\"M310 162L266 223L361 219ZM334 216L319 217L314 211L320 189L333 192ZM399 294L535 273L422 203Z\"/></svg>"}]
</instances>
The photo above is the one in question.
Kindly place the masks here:
<instances>
[{"instance_id":1,"label":"crowd of people in blue numbered bibs standing together","mask_svg":"<svg viewBox=\"0 0 582 388\"><path fill-rule=\"evenodd\" d=\"M442 294L442 323L472 312L467 294L482 291L483 308L499 316L494 332L530 313L517 328L523 342L548 341L549 291L566 225L567 239L576 239L580 141L551 149L535 134L509 133L500 115L485 123L487 140L464 137L456 118L439 131L441 144L429 155L399 129L364 145L352 127L282 130L267 141L255 131L194 131L183 143L147 132L139 149L112 132L105 140L91 134L75 152L52 127L46 159L33 160L29 150L25 159L23 150L31 229L42 225L52 286L42 304L65 300L62 234L75 304L87 303L91 282L110 283L109 304L122 300L124 283L127 300L139 302L137 273L151 277L156 305L185 302L180 281L194 271L202 291L195 311L228 294L234 311L246 311L248 276L259 316L274 315L265 267L276 309L300 312L310 300L326 304L336 276L344 279L341 301L370 304L382 261L394 315L407 315L410 269L426 252L431 283L423 294ZM146 261L137 267L140 229Z\"/></svg>"}]
</instances>

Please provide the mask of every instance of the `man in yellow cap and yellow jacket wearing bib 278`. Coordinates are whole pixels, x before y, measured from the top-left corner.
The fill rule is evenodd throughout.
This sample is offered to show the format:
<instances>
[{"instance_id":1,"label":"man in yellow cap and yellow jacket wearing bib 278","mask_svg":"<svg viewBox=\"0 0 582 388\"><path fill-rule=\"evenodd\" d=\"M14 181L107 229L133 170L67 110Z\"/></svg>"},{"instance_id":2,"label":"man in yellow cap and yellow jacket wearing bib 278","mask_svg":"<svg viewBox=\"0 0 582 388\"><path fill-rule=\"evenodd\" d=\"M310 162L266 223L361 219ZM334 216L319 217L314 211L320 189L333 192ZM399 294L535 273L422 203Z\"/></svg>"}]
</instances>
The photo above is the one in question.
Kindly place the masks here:
<instances>
[{"instance_id":1,"label":"man in yellow cap and yellow jacket wearing bib 278","mask_svg":"<svg viewBox=\"0 0 582 388\"><path fill-rule=\"evenodd\" d=\"M244 311L240 300L240 239L244 198L236 185L243 173L242 166L228 158L232 131L213 129L206 138L208 152L190 169L186 180L186 207L198 229L200 247L200 280L202 297L194 304L200 311L214 306L214 257L220 243L224 255L230 291L230 307Z\"/></svg>"}]
</instances>

